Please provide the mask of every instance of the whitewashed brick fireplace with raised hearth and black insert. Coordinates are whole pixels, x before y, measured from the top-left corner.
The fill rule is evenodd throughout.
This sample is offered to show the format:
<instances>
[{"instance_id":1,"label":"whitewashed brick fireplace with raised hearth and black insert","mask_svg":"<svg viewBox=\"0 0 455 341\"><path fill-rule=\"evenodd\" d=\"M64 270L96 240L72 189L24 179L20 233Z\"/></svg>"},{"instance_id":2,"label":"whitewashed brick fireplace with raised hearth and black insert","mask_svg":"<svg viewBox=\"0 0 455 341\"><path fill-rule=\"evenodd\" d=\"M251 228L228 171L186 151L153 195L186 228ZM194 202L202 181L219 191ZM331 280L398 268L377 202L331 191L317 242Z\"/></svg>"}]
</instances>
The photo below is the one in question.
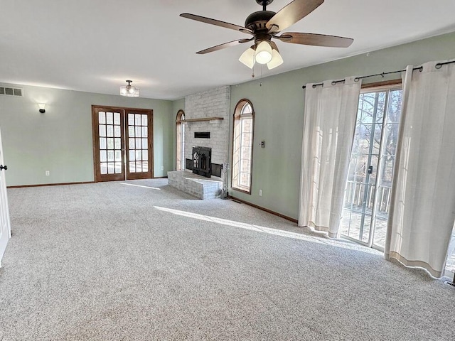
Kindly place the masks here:
<instances>
[{"instance_id":1,"label":"whitewashed brick fireplace with raised hearth and black insert","mask_svg":"<svg viewBox=\"0 0 455 341\"><path fill-rule=\"evenodd\" d=\"M228 163L229 111L230 87L185 97L186 171L168 172L170 186L203 200L220 197L222 168Z\"/></svg>"}]
</instances>

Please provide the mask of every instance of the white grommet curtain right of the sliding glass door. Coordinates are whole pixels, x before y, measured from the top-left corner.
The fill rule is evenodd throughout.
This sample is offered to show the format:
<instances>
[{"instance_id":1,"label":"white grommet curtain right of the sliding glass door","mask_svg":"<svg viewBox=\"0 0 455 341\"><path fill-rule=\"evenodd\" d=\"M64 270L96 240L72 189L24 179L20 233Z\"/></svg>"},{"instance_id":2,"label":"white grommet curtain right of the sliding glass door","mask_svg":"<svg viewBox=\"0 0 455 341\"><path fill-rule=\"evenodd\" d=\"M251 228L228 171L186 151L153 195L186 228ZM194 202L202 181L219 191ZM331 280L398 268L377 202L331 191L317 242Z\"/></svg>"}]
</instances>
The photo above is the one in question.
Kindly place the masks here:
<instances>
[{"instance_id":1,"label":"white grommet curtain right of the sliding glass door","mask_svg":"<svg viewBox=\"0 0 455 341\"><path fill-rule=\"evenodd\" d=\"M453 63L407 67L401 120L385 258L441 277L455 220Z\"/></svg>"}]
</instances>

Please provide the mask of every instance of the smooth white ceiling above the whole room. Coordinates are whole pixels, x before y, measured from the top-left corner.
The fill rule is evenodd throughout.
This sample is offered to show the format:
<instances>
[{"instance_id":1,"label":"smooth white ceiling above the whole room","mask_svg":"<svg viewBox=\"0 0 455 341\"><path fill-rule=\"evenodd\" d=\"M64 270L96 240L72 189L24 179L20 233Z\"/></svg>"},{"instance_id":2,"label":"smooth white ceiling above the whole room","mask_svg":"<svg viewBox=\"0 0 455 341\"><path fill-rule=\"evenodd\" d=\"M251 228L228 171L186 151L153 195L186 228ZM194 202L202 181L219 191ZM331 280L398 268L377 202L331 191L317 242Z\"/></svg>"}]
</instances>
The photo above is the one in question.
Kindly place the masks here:
<instances>
[{"instance_id":1,"label":"smooth white ceiling above the whole room","mask_svg":"<svg viewBox=\"0 0 455 341\"><path fill-rule=\"evenodd\" d=\"M243 26L261 9L255 0L0 0L0 82L119 94L129 79L141 97L157 99L247 82L252 72L238 58L249 44L196 51L249 36L178 15ZM284 64L262 67L262 77L455 31L454 13L454 0L326 0L286 31L346 36L353 45L277 41Z\"/></svg>"}]
</instances>

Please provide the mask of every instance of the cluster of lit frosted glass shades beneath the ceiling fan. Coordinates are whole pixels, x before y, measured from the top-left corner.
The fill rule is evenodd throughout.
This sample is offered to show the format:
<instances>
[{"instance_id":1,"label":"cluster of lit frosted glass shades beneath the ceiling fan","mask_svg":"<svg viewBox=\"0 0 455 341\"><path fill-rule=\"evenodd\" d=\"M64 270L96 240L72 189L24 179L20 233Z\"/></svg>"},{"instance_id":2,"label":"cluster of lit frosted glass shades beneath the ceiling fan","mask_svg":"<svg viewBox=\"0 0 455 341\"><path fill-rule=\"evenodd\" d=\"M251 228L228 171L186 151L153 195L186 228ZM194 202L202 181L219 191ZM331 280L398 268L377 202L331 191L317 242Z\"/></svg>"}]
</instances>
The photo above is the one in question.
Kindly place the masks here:
<instances>
[{"instance_id":1,"label":"cluster of lit frosted glass shades beneath the ceiling fan","mask_svg":"<svg viewBox=\"0 0 455 341\"><path fill-rule=\"evenodd\" d=\"M240 55L239 60L240 63L250 67L250 69L253 68L255 63L267 64L269 70L272 70L283 63L283 58L279 54L277 45L268 40L262 40L259 44L248 48Z\"/></svg>"}]
</instances>

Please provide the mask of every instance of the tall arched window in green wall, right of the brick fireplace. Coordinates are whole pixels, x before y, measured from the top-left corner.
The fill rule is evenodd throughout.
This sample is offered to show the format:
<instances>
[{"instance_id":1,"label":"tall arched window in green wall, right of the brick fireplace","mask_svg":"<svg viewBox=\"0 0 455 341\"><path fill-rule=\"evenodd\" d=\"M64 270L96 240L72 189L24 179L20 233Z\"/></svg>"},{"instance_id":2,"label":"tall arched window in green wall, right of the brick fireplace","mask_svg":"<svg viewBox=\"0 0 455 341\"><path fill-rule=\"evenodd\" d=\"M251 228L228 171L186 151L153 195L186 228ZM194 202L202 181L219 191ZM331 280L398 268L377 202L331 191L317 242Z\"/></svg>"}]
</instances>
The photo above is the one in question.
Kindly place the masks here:
<instances>
[{"instance_id":1,"label":"tall arched window in green wall, right of the brick fireplace","mask_svg":"<svg viewBox=\"0 0 455 341\"><path fill-rule=\"evenodd\" d=\"M242 99L235 106L232 141L232 188L251 194L253 127L255 112L251 102Z\"/></svg>"}]
</instances>

